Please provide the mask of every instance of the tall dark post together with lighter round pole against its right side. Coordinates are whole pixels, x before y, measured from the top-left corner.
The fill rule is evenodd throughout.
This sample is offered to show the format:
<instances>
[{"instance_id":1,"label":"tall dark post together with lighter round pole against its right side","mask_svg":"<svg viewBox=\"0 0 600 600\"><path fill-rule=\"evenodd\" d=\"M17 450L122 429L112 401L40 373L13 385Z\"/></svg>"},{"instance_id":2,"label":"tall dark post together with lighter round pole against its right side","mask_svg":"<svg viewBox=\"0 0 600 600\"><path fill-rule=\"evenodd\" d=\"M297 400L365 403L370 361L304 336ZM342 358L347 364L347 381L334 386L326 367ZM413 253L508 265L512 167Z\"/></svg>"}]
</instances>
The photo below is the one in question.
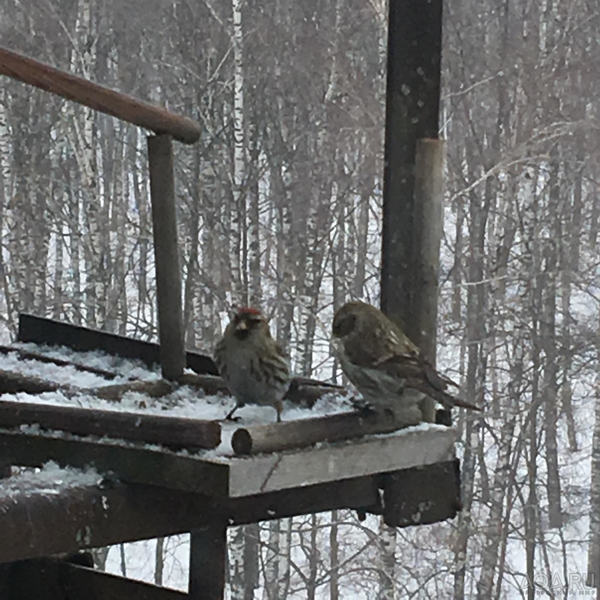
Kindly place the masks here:
<instances>
[{"instance_id":1,"label":"tall dark post together with lighter round pole against its right side","mask_svg":"<svg viewBox=\"0 0 600 600\"><path fill-rule=\"evenodd\" d=\"M389 2L383 167L381 308L433 364L443 224L442 4ZM422 410L427 421L448 424L430 398Z\"/></svg>"}]
</instances>

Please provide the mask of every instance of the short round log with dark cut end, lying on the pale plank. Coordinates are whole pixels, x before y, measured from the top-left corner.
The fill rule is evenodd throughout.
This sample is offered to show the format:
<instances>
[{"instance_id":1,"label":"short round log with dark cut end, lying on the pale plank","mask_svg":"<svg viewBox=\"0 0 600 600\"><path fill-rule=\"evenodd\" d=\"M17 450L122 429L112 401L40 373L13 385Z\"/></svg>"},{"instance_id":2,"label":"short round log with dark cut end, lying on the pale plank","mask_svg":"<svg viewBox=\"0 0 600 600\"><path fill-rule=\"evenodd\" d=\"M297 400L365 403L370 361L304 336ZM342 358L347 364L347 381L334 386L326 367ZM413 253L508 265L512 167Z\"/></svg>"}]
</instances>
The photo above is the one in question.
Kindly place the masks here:
<instances>
[{"instance_id":1,"label":"short round log with dark cut end, lying on the pale plank","mask_svg":"<svg viewBox=\"0 0 600 600\"><path fill-rule=\"evenodd\" d=\"M236 455L268 454L307 448L319 442L338 442L374 433L392 433L404 426L387 415L353 412L316 419L241 427L233 433Z\"/></svg>"}]
</instances>

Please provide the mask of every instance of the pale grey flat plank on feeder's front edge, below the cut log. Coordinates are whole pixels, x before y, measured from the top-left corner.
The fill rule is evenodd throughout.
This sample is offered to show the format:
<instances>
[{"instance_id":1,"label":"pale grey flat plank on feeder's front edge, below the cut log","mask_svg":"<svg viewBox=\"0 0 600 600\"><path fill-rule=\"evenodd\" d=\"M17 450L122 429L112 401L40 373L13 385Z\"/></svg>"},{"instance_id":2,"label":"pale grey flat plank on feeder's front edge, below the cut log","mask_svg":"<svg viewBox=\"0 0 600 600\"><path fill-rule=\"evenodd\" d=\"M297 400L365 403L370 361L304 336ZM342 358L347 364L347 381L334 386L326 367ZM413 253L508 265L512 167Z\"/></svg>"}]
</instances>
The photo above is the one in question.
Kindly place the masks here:
<instances>
[{"instance_id":1,"label":"pale grey flat plank on feeder's front edge, below the cut log","mask_svg":"<svg viewBox=\"0 0 600 600\"><path fill-rule=\"evenodd\" d=\"M456 437L451 428L427 424L299 452L230 458L229 496L250 496L449 461L455 457Z\"/></svg>"}]
</instances>

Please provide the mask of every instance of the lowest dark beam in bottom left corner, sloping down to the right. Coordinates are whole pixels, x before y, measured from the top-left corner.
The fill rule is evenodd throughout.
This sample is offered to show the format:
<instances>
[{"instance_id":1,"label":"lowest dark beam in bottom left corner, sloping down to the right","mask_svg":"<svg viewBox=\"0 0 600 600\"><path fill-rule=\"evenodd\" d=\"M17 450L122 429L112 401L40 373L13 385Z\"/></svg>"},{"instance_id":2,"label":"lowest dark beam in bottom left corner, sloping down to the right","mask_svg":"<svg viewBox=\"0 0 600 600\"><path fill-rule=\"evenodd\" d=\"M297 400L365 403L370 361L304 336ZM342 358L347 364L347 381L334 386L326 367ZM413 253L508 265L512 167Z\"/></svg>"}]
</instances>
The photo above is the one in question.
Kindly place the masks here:
<instances>
[{"instance_id":1,"label":"lowest dark beam in bottom left corner, sloping down to the right","mask_svg":"<svg viewBox=\"0 0 600 600\"><path fill-rule=\"evenodd\" d=\"M0 566L0 598L44 600L182 600L185 592L73 565L55 558Z\"/></svg>"}]
</instances>

